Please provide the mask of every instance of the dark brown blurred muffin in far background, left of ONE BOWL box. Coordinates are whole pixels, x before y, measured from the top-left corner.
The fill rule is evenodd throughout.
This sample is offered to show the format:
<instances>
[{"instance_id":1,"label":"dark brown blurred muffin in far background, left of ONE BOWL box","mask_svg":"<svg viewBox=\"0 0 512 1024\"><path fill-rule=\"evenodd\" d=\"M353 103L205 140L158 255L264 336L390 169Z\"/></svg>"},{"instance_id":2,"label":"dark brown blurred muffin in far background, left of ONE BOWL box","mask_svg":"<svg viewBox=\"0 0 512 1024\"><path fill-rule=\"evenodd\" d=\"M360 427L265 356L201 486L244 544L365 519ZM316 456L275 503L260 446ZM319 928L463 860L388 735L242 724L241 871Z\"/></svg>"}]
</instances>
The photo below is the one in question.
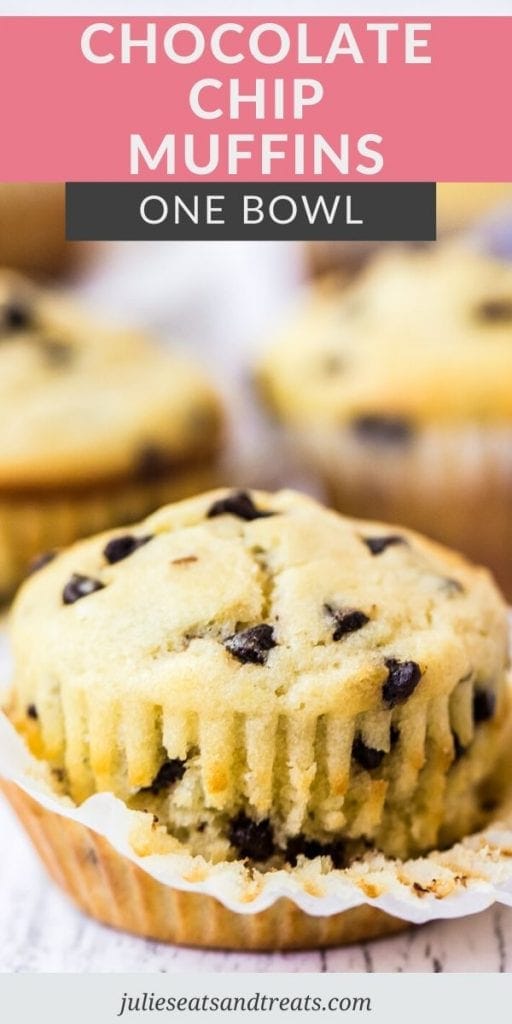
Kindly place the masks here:
<instances>
[{"instance_id":1,"label":"dark brown blurred muffin in far background, left of ONE BOWL box","mask_svg":"<svg viewBox=\"0 0 512 1024\"><path fill-rule=\"evenodd\" d=\"M63 184L0 184L0 265L36 276L66 270L77 247L66 241L65 215Z\"/></svg>"}]
</instances>

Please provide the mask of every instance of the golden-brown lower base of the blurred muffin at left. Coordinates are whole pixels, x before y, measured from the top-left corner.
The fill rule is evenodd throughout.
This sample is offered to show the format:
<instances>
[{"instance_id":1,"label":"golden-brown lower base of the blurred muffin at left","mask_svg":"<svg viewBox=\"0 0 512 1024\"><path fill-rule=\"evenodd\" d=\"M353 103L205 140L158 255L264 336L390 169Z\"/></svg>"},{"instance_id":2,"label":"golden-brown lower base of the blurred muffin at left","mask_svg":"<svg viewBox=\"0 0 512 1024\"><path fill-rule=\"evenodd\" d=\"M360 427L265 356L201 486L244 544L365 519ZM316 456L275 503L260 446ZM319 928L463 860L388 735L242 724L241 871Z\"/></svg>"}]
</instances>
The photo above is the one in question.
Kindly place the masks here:
<instances>
[{"instance_id":1,"label":"golden-brown lower base of the blurred muffin at left","mask_svg":"<svg viewBox=\"0 0 512 1024\"><path fill-rule=\"evenodd\" d=\"M152 480L41 493L0 492L0 605L42 552L91 534L135 522L161 505L218 483L215 461L184 464Z\"/></svg>"}]
</instances>

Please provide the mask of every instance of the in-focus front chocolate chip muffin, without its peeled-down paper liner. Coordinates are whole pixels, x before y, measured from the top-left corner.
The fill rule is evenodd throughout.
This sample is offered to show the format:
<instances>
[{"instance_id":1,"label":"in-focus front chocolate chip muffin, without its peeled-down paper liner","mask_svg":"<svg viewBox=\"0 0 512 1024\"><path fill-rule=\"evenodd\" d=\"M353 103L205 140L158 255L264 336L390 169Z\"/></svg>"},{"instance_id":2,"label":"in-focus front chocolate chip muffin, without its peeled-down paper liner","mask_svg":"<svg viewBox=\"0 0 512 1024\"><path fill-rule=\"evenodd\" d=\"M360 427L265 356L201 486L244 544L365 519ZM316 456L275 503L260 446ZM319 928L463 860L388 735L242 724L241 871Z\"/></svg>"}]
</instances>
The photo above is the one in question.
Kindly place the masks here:
<instances>
[{"instance_id":1,"label":"in-focus front chocolate chip muffin, without its peeled-down paper liner","mask_svg":"<svg viewBox=\"0 0 512 1024\"><path fill-rule=\"evenodd\" d=\"M216 492L41 567L12 642L16 728L76 802L154 815L144 853L339 868L484 820L506 608L415 534Z\"/></svg>"}]
</instances>

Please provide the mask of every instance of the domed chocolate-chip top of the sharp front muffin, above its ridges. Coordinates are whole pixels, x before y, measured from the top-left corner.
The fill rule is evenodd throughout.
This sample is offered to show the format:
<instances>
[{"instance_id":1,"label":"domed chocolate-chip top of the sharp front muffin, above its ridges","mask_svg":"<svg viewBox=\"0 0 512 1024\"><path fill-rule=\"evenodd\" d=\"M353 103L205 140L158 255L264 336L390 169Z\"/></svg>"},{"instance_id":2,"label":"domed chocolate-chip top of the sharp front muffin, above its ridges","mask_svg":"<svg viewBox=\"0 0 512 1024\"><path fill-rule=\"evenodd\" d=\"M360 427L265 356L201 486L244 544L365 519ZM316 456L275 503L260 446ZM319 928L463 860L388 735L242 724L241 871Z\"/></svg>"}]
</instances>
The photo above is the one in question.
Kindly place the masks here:
<instances>
[{"instance_id":1,"label":"domed chocolate-chip top of the sharp front muffin, above its ridges","mask_svg":"<svg viewBox=\"0 0 512 1024\"><path fill-rule=\"evenodd\" d=\"M14 688L177 714L427 701L507 657L483 569L293 492L221 490L58 554L14 604Z\"/></svg>"}]
</instances>

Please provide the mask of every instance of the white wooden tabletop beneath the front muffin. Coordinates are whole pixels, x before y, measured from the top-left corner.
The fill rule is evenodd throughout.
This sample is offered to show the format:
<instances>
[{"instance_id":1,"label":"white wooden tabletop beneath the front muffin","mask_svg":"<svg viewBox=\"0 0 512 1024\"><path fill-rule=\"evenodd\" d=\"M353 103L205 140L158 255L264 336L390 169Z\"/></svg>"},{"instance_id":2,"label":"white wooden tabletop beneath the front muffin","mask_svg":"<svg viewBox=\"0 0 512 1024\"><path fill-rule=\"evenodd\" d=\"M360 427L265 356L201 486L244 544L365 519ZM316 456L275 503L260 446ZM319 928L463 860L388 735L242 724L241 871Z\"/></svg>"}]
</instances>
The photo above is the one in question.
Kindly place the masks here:
<instances>
[{"instance_id":1,"label":"white wooden tabletop beneath the front muffin","mask_svg":"<svg viewBox=\"0 0 512 1024\"><path fill-rule=\"evenodd\" d=\"M436 922L395 938L300 953L181 949L89 920L48 881L10 808L0 803L0 972L505 971L512 909Z\"/></svg>"}]
</instances>

